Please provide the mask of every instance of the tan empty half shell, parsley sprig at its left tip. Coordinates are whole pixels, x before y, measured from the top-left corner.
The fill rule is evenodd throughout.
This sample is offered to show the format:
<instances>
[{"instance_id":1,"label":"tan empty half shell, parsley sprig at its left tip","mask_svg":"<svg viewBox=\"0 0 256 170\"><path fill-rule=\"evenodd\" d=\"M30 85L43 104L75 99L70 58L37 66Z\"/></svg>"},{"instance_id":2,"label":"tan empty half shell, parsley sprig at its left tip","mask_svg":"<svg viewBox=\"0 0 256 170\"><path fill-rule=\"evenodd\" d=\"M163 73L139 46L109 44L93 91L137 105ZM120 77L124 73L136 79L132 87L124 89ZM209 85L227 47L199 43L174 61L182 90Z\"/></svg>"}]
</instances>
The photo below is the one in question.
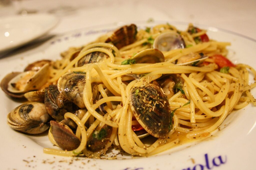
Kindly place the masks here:
<instances>
[{"instance_id":1,"label":"tan empty half shell, parsley sprig at its left tip","mask_svg":"<svg viewBox=\"0 0 256 170\"><path fill-rule=\"evenodd\" d=\"M164 55L156 48L149 48L135 54L131 60L135 60L135 63L158 63L164 62Z\"/></svg>"}]
</instances>

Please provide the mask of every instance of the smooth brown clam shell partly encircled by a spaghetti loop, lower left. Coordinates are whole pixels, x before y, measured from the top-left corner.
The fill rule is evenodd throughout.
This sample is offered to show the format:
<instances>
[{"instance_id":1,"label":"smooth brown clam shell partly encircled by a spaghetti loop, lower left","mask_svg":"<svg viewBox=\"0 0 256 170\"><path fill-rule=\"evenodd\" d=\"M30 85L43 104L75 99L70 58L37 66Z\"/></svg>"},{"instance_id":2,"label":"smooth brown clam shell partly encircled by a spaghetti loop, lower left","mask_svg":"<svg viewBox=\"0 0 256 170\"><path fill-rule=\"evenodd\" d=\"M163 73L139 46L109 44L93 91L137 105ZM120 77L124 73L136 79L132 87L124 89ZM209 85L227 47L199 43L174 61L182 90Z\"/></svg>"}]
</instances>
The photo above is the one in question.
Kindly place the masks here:
<instances>
[{"instance_id":1,"label":"smooth brown clam shell partly encircled by a spaghetti loop, lower left","mask_svg":"<svg viewBox=\"0 0 256 170\"><path fill-rule=\"evenodd\" d=\"M61 149L70 151L79 147L80 140L67 125L55 121L50 124L52 136Z\"/></svg>"}]
</instances>

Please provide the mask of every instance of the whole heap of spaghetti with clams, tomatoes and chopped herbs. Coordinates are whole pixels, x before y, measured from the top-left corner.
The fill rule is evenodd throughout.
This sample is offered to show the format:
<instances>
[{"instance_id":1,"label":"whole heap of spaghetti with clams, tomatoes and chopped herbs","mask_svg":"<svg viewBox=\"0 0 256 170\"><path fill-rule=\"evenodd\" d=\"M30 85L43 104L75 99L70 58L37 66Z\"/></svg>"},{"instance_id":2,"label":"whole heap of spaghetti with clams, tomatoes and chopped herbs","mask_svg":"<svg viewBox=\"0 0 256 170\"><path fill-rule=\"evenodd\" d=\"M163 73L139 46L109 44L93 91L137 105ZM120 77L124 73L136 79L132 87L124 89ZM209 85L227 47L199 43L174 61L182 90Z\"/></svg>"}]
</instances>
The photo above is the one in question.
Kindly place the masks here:
<instances>
[{"instance_id":1,"label":"whole heap of spaghetti with clams, tomatoes and chopped herbs","mask_svg":"<svg viewBox=\"0 0 256 170\"><path fill-rule=\"evenodd\" d=\"M42 87L26 86L41 69L18 80L3 79L6 93L16 95L4 89L5 81L7 88L19 88L19 94L33 101L9 113L8 124L36 134L48 129L52 117L48 137L62 150L44 152L63 156L98 158L111 146L149 156L204 139L232 110L256 106L250 93L256 83L248 83L249 72L255 80L256 71L230 62L225 57L228 45L209 40L205 30L192 24L186 31L169 24L138 31L134 24L123 26L111 36L70 48L61 60L44 63L50 78ZM24 116L13 114L34 115L38 101L45 110L39 118L30 118L34 124L25 125ZM149 138L150 144L141 138Z\"/></svg>"}]
</instances>

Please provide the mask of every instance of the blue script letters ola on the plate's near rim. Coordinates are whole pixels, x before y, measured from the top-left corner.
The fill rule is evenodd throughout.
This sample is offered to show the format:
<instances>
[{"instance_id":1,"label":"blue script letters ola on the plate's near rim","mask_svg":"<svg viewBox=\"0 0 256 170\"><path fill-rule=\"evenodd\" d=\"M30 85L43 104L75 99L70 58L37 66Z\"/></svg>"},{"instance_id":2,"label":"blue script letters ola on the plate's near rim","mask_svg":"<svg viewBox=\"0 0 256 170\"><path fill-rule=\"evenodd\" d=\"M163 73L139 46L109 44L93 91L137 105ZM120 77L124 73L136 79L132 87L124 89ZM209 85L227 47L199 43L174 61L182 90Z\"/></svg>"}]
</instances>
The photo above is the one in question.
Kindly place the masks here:
<instances>
[{"instance_id":1,"label":"blue script letters ola on the plate's near rim","mask_svg":"<svg viewBox=\"0 0 256 170\"><path fill-rule=\"evenodd\" d=\"M212 165L211 165L212 162ZM205 154L205 164L196 164L193 168L188 167L182 170L204 170L204 169L212 169L215 166L220 166L221 164L225 164L227 162L227 156L225 155L224 159L221 155L214 157L211 162L209 162L208 154Z\"/></svg>"}]
</instances>

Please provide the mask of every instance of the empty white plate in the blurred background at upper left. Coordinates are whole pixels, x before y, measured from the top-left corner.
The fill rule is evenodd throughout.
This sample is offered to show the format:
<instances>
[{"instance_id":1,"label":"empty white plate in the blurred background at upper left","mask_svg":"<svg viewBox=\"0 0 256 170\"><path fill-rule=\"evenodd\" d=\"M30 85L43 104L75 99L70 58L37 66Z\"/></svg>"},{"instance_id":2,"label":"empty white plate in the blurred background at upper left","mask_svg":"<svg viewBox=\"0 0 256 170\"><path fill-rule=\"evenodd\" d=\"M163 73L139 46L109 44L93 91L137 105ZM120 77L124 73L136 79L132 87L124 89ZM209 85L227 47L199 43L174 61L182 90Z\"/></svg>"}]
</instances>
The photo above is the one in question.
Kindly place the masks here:
<instances>
[{"instance_id":1,"label":"empty white plate in the blurred background at upper left","mask_svg":"<svg viewBox=\"0 0 256 170\"><path fill-rule=\"evenodd\" d=\"M19 47L44 35L58 19L49 14L30 14L0 18L0 52Z\"/></svg>"}]
</instances>

